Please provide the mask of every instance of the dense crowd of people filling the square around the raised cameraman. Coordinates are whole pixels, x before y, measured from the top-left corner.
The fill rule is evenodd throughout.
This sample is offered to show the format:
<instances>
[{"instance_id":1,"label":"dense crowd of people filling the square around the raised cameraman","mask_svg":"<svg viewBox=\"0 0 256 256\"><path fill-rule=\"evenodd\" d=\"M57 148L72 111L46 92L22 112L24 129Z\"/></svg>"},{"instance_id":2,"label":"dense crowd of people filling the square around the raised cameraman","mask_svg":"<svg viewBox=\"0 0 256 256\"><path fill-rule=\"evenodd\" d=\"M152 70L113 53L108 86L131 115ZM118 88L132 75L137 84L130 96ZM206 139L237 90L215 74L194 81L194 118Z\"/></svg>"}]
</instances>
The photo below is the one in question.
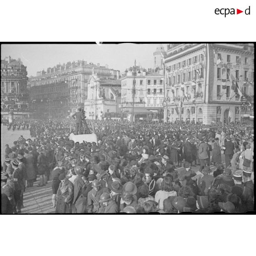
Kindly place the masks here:
<instances>
[{"instance_id":1,"label":"dense crowd of people filling the square around the raised cameraman","mask_svg":"<svg viewBox=\"0 0 256 256\"><path fill-rule=\"evenodd\" d=\"M243 213L254 209L254 130L244 123L88 120L97 143L74 143L71 119L30 123L6 145L3 213L51 181L56 213Z\"/></svg>"}]
</instances>

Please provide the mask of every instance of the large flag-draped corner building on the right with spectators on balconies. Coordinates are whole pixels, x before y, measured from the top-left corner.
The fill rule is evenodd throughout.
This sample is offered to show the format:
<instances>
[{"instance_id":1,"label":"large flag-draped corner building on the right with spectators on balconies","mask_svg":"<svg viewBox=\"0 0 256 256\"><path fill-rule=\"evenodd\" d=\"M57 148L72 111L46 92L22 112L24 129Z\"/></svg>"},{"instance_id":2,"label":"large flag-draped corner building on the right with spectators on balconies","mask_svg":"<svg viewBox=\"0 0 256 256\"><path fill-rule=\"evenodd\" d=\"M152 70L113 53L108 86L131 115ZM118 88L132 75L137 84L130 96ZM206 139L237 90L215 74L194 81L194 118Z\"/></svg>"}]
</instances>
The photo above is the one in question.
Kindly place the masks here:
<instances>
[{"instance_id":1,"label":"large flag-draped corner building on the right with spectators on balconies","mask_svg":"<svg viewBox=\"0 0 256 256\"><path fill-rule=\"evenodd\" d=\"M240 121L254 97L253 56L253 44L168 45L165 121Z\"/></svg>"}]
</instances>

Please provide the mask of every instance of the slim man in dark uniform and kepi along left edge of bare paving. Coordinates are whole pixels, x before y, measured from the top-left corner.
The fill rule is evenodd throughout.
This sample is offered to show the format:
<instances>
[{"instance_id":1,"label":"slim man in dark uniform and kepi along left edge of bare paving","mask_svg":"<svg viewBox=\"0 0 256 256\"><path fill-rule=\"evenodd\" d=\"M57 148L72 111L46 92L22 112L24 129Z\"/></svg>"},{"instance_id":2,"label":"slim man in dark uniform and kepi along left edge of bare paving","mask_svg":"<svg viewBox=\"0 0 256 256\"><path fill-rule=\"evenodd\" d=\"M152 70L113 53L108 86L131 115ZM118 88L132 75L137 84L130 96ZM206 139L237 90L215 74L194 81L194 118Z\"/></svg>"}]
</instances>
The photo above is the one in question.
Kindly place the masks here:
<instances>
[{"instance_id":1,"label":"slim man in dark uniform and kepi along left edge of bare paving","mask_svg":"<svg viewBox=\"0 0 256 256\"><path fill-rule=\"evenodd\" d=\"M21 171L19 169L19 163L16 160L12 161L12 168L14 169L12 174L12 180L14 182L14 200L17 213L21 213L21 191L23 189L23 181Z\"/></svg>"}]
</instances>

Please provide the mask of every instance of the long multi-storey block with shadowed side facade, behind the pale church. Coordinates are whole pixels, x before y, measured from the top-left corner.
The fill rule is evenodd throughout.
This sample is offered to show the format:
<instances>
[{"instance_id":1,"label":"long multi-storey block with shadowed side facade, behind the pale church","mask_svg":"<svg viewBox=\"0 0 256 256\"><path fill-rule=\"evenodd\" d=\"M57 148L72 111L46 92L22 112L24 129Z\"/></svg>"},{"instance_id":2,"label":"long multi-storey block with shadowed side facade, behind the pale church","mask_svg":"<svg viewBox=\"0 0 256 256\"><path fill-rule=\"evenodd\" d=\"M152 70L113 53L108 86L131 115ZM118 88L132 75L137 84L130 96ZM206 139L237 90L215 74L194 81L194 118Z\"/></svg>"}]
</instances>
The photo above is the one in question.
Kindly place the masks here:
<instances>
[{"instance_id":1,"label":"long multi-storey block with shadowed side facade, behind the pale church","mask_svg":"<svg viewBox=\"0 0 256 256\"><path fill-rule=\"evenodd\" d=\"M33 107L40 117L67 117L84 106L87 82L92 71L101 79L118 79L120 72L86 61L58 64L30 77L28 86Z\"/></svg>"}]
</instances>

